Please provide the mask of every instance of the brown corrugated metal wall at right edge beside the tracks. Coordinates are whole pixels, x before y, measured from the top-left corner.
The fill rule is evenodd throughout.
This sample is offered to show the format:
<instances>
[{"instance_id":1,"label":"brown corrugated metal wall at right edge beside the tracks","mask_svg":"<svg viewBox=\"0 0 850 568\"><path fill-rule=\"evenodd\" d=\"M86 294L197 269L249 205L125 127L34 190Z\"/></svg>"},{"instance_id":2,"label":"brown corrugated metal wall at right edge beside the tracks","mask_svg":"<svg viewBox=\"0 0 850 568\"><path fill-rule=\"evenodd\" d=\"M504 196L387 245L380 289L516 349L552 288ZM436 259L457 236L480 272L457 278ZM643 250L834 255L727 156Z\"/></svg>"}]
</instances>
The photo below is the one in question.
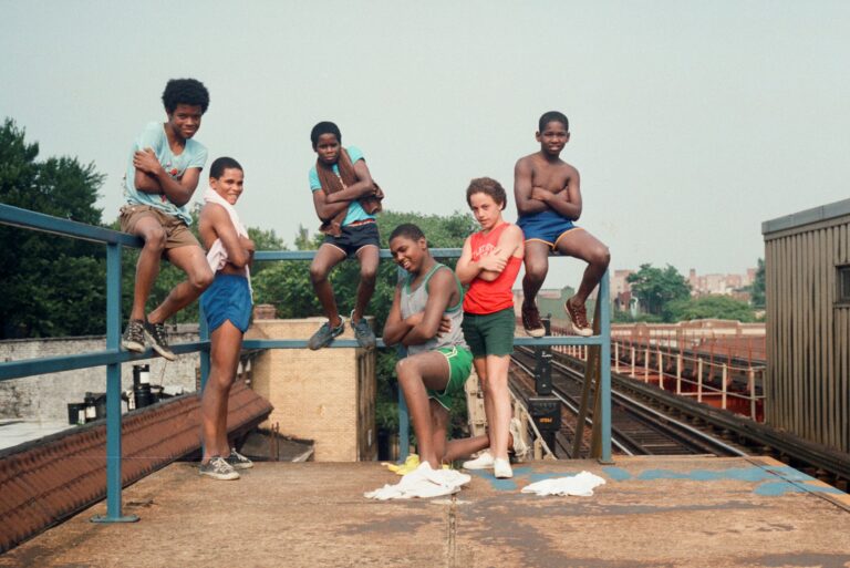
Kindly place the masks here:
<instances>
[{"instance_id":1,"label":"brown corrugated metal wall at right edge beside the tracks","mask_svg":"<svg viewBox=\"0 0 850 568\"><path fill-rule=\"evenodd\" d=\"M850 452L850 304L837 302L837 267L850 265L848 204L763 227L766 420L841 452Z\"/></svg>"}]
</instances>

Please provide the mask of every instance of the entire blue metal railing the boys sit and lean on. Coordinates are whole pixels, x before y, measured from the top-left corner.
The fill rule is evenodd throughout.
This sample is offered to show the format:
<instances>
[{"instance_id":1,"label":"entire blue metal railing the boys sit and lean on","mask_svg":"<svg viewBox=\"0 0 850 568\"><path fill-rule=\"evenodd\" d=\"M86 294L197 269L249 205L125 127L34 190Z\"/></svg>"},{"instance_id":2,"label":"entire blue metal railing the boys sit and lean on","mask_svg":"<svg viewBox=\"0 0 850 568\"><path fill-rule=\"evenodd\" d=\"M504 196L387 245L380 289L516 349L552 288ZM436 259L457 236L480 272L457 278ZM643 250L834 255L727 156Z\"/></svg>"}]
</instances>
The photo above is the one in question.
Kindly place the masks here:
<instances>
[{"instance_id":1,"label":"entire blue metal railing the boys sit and lean on","mask_svg":"<svg viewBox=\"0 0 850 568\"><path fill-rule=\"evenodd\" d=\"M123 516L121 503L121 364L156 357L152 349L143 353L121 350L121 250L122 247L141 248L141 239L83 223L61 219L40 213L0 204L0 224L40 230L106 245L106 350L74 355L62 355L0 363L0 381L34 374L54 373L91 366L106 366L106 515L92 520L122 523L138 520L135 515ZM460 249L435 248L432 254L438 258L457 258ZM267 251L255 255L255 260L312 260L315 251ZM388 250L381 250L381 258L391 258ZM609 297L609 275L602 277L599 298ZM602 319L600 335L516 338L517 345L599 345L601 350L601 437L602 461L611 461L611 312L608 301L600 306ZM200 340L172 345L177 354L200 352L201 389L209 374L209 334L204 318L200 321ZM379 340L379 347L384 347ZM336 340L333 348L354 348L354 340ZM247 349L303 349L305 340L246 340ZM400 441L410 440L408 416L400 392ZM403 444L406 450L406 444Z\"/></svg>"}]
</instances>

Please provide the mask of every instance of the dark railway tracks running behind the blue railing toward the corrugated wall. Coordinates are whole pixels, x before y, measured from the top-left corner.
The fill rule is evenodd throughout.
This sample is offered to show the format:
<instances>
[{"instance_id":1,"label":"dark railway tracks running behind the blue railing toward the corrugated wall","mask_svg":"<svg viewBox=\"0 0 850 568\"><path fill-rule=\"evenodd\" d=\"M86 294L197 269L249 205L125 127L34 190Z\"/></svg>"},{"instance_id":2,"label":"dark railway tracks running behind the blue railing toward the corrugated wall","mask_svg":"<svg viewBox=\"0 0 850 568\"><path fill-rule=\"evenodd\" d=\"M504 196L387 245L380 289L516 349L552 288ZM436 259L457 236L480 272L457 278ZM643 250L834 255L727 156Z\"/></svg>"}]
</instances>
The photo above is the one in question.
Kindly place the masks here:
<instances>
[{"instance_id":1,"label":"dark railway tracks running behind the blue railing toward the corrugated wall","mask_svg":"<svg viewBox=\"0 0 850 568\"><path fill-rule=\"evenodd\" d=\"M558 454L572 456L579 394L585 362L552 353L553 394L563 401ZM533 353L517 348L511 366L512 389L522 397L533 394ZM850 486L850 456L734 414L677 396L640 378L611 373L612 438L621 455L715 454L771 455L839 489ZM588 419L592 424L592 414ZM685 426L685 427L682 427ZM698 434L697 434L698 432ZM582 447L589 447L585 434ZM717 445L712 448L716 441Z\"/></svg>"}]
</instances>

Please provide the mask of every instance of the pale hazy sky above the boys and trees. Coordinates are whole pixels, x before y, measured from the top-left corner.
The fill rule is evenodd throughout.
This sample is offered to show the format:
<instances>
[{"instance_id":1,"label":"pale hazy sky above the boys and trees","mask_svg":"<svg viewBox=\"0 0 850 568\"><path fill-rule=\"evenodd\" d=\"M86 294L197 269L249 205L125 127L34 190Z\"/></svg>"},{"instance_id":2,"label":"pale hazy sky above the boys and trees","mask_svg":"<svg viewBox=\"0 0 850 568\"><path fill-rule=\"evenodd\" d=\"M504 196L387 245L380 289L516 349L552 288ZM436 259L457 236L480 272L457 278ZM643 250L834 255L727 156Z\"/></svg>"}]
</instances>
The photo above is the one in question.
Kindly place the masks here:
<instances>
[{"instance_id":1,"label":"pale hazy sky above the boys and trees","mask_svg":"<svg viewBox=\"0 0 850 568\"><path fill-rule=\"evenodd\" d=\"M538 116L563 111L580 225L613 268L742 272L761 221L850 193L848 2L0 0L0 115L107 174L106 220L176 76L210 90L197 140L245 166L243 219L289 244L318 225L320 120L364 151L387 208L448 214L471 177L510 193ZM547 287L576 283L578 262L553 266Z\"/></svg>"}]
</instances>

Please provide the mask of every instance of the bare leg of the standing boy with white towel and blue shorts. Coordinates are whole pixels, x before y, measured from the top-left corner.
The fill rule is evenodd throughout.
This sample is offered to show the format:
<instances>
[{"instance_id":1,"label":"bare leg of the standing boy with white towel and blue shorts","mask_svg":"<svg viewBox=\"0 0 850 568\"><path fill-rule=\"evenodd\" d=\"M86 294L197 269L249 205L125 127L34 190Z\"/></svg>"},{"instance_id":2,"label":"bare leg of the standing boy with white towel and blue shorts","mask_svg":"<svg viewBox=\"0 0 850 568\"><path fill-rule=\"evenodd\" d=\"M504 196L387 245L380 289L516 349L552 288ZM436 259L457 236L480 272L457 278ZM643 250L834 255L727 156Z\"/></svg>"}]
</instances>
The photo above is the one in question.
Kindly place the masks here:
<instances>
[{"instance_id":1,"label":"bare leg of the standing boy with white towel and blue shorts","mask_svg":"<svg viewBox=\"0 0 850 568\"><path fill-rule=\"evenodd\" d=\"M200 399L203 463L209 462L209 458L216 455L230 455L230 445L227 442L227 402L239 364L242 332L228 320L212 332L210 339L211 365Z\"/></svg>"}]
</instances>

